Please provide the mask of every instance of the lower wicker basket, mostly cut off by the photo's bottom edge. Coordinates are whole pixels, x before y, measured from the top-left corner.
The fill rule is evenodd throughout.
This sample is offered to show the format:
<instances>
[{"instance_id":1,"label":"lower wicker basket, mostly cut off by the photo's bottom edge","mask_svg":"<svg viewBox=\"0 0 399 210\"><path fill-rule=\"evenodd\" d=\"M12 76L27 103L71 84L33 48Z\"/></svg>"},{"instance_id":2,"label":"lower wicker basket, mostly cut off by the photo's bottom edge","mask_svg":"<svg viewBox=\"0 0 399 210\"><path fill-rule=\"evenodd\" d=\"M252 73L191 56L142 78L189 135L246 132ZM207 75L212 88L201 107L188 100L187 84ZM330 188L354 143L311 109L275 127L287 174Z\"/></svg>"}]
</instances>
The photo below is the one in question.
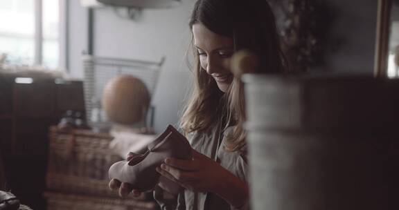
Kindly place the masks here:
<instances>
[{"instance_id":1,"label":"lower wicker basket, mostly cut off by the photo's bottom edge","mask_svg":"<svg viewBox=\"0 0 399 210\"><path fill-rule=\"evenodd\" d=\"M102 198L64 193L44 193L47 210L153 210L155 202L121 198Z\"/></svg>"}]
</instances>

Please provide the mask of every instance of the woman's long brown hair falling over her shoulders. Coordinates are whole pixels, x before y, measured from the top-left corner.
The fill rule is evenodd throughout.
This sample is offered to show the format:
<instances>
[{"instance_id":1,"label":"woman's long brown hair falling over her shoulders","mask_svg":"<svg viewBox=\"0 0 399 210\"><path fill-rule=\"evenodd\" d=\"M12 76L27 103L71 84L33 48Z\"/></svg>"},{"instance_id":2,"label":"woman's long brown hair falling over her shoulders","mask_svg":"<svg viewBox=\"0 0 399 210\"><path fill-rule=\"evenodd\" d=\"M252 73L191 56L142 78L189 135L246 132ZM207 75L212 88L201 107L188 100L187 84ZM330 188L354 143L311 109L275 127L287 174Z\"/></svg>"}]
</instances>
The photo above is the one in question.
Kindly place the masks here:
<instances>
[{"instance_id":1,"label":"woman's long brown hair falling over her shoulders","mask_svg":"<svg viewBox=\"0 0 399 210\"><path fill-rule=\"evenodd\" d=\"M198 0L189 22L191 30L195 23L218 35L231 37L235 51L246 49L255 53L259 58L256 73L283 73L280 40L267 0ZM201 68L197 53L194 55L194 89L180 126L186 133L202 131L226 114L224 126L234 125L234 130L224 148L236 151L245 144L243 84L234 78L226 94L222 93L215 80Z\"/></svg>"}]
</instances>

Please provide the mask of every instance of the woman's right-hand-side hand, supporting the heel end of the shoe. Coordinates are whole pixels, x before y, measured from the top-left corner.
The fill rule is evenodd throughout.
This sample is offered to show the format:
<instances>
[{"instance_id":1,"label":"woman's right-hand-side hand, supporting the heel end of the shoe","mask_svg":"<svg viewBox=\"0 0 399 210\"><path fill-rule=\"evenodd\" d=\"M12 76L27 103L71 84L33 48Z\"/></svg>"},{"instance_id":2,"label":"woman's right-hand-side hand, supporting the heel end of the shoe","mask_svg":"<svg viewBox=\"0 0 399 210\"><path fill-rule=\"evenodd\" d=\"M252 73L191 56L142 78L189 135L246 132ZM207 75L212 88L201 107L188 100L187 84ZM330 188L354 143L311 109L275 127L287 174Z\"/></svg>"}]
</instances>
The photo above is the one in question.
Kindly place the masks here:
<instances>
[{"instance_id":1,"label":"woman's right-hand-side hand, supporting the heel end of the shoe","mask_svg":"<svg viewBox=\"0 0 399 210\"><path fill-rule=\"evenodd\" d=\"M193 149L193 160L166 158L158 173L177 182L182 187L197 192L213 192L230 175L218 162Z\"/></svg>"}]
</instances>

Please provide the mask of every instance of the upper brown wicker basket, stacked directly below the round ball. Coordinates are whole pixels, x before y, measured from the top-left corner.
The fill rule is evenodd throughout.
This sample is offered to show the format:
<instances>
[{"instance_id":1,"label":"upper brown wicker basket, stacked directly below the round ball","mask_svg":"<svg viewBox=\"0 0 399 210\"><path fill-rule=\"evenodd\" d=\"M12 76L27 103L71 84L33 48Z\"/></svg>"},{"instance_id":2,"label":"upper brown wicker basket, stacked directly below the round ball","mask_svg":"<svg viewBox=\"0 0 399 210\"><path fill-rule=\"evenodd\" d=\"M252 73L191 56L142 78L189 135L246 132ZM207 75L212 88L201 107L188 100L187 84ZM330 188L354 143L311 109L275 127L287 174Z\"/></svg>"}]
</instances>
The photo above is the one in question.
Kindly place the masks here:
<instances>
[{"instance_id":1,"label":"upper brown wicker basket, stacked directly below the round ball","mask_svg":"<svg viewBox=\"0 0 399 210\"><path fill-rule=\"evenodd\" d=\"M108 169L121 158L109 150L112 137L87 130L50 128L47 188L50 191L118 197L108 188Z\"/></svg>"}]
</instances>

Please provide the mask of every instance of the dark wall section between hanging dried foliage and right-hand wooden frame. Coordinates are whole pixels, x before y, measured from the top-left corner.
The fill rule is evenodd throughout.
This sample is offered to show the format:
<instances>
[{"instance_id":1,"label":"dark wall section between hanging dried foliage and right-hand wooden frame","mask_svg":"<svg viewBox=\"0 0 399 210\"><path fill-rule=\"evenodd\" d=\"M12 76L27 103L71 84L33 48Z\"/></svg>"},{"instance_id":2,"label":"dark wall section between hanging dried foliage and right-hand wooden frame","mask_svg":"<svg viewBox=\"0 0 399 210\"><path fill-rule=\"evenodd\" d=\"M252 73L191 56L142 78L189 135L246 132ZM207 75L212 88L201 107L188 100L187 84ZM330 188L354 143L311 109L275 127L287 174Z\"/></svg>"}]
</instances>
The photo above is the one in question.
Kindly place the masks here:
<instances>
[{"instance_id":1,"label":"dark wall section between hanging dried foliage and right-hand wooden frame","mask_svg":"<svg viewBox=\"0 0 399 210\"><path fill-rule=\"evenodd\" d=\"M317 71L373 74L377 2L317 0L334 13L326 66Z\"/></svg>"}]
</instances>

